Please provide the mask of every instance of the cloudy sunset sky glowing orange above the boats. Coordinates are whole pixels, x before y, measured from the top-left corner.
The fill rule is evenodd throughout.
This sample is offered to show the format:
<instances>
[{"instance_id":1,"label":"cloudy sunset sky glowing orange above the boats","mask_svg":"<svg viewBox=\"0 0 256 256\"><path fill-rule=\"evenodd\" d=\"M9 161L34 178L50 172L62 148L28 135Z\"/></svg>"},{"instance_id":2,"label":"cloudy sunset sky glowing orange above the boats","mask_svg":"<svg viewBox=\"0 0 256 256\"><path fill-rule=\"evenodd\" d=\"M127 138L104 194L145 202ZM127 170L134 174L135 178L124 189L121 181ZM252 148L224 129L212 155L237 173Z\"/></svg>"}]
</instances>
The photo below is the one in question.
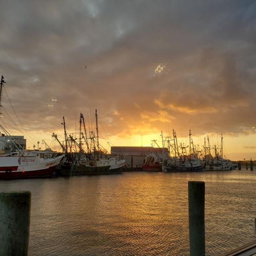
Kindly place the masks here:
<instances>
[{"instance_id":1,"label":"cloudy sunset sky glowing orange above the boats","mask_svg":"<svg viewBox=\"0 0 256 256\"><path fill-rule=\"evenodd\" d=\"M256 160L255 1L0 2L0 75L30 149L63 138L62 116L74 133L97 109L108 149L191 129ZM20 125L5 92L2 105Z\"/></svg>"}]
</instances>

